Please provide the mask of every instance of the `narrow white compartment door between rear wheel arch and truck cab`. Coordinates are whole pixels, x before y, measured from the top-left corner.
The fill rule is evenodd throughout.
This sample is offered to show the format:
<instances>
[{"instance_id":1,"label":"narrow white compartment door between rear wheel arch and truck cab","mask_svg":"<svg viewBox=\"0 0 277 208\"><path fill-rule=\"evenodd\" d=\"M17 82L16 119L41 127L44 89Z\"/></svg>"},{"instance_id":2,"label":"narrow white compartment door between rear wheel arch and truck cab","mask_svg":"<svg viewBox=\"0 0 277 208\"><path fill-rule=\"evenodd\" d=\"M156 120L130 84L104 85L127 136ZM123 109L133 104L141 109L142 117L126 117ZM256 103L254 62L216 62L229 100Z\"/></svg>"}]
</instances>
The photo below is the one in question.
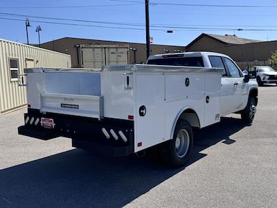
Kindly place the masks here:
<instances>
[{"instance_id":1,"label":"narrow white compartment door between rear wheel arch and truck cab","mask_svg":"<svg viewBox=\"0 0 277 208\"><path fill-rule=\"evenodd\" d=\"M206 75L204 126L220 122L221 74Z\"/></svg>"}]
</instances>

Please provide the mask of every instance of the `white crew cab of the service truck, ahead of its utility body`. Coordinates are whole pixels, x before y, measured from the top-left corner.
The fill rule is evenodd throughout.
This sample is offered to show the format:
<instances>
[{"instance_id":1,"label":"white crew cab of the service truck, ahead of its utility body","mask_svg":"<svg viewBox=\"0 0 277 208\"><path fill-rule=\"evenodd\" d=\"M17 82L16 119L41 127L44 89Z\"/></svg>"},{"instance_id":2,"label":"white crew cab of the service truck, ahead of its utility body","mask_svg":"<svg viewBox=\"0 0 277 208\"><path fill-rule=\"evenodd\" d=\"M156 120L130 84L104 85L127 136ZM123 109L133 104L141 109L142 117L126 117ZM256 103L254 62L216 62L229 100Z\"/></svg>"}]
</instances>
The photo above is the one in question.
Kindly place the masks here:
<instances>
[{"instance_id":1,"label":"white crew cab of the service truck, ahead of its utility body","mask_svg":"<svg viewBox=\"0 0 277 208\"><path fill-rule=\"evenodd\" d=\"M228 55L213 52L168 53L150 56L147 64L224 69L220 89L220 116L244 110L250 93L254 94L258 103L256 80L245 77Z\"/></svg>"}]
</instances>

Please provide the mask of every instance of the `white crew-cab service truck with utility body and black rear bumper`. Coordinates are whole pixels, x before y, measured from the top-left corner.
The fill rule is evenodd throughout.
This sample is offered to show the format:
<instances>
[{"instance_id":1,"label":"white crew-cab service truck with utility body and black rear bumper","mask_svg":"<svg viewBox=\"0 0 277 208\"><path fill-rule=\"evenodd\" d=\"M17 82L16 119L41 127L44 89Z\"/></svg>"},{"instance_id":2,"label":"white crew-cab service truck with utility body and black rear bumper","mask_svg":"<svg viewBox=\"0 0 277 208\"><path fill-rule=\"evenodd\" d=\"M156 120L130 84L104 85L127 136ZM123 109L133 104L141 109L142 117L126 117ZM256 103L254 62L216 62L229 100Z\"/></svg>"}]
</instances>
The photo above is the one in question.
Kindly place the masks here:
<instances>
[{"instance_id":1,"label":"white crew-cab service truck with utility body and black rear bumper","mask_svg":"<svg viewBox=\"0 0 277 208\"><path fill-rule=\"evenodd\" d=\"M102 69L26 69L28 112L20 135L69 137L77 148L124 156L159 146L172 166L193 148L192 127L240 113L251 123L256 80L220 53L153 55Z\"/></svg>"}]
</instances>

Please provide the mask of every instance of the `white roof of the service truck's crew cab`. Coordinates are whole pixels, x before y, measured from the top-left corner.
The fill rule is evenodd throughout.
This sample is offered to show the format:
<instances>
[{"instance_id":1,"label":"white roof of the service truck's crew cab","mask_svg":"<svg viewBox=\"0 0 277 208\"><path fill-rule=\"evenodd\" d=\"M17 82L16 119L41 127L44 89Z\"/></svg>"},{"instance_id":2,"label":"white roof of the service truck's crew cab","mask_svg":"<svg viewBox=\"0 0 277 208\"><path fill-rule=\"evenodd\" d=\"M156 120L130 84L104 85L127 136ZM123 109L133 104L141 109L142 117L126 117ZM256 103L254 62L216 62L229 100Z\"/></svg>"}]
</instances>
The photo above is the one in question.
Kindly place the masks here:
<instances>
[{"instance_id":1,"label":"white roof of the service truck's crew cab","mask_svg":"<svg viewBox=\"0 0 277 208\"><path fill-rule=\"evenodd\" d=\"M228 55L224 55L222 53L207 52L207 51L195 51L195 52L184 52L184 53L163 53L163 54L157 54L157 55L150 55L148 60L161 59L161 58L177 58L178 56L179 57L200 57L205 54L228 57Z\"/></svg>"}]
</instances>

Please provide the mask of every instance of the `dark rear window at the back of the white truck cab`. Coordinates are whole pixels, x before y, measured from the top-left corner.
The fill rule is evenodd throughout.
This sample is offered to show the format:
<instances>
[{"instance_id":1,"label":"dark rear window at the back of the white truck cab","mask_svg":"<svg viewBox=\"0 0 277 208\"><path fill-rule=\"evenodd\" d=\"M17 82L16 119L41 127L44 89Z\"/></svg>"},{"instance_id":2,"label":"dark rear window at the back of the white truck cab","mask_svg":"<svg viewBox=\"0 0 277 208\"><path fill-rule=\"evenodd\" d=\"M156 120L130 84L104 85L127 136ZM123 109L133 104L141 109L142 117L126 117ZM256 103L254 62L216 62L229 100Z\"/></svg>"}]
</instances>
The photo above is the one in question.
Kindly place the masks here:
<instances>
[{"instance_id":1,"label":"dark rear window at the back of the white truck cab","mask_svg":"<svg viewBox=\"0 0 277 208\"><path fill-rule=\"evenodd\" d=\"M148 64L163 66L204 67L202 57L160 58L148 60Z\"/></svg>"}]
</instances>

